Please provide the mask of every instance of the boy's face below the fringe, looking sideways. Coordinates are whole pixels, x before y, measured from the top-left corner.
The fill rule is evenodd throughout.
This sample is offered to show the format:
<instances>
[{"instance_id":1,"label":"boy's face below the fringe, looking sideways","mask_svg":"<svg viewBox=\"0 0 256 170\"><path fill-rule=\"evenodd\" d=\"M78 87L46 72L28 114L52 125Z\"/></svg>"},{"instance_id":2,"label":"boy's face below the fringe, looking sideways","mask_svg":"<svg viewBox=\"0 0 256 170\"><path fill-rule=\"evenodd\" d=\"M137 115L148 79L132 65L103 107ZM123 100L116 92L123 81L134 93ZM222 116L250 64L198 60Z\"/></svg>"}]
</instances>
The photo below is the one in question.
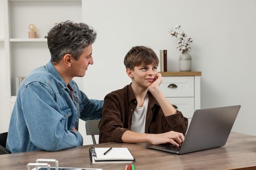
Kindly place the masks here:
<instances>
[{"instance_id":1,"label":"boy's face below the fringe, looking sideways","mask_svg":"<svg viewBox=\"0 0 256 170\"><path fill-rule=\"evenodd\" d=\"M158 65L140 65L135 66L133 71L127 69L127 75L132 78L133 84L140 87L148 88L155 80L158 73Z\"/></svg>"}]
</instances>

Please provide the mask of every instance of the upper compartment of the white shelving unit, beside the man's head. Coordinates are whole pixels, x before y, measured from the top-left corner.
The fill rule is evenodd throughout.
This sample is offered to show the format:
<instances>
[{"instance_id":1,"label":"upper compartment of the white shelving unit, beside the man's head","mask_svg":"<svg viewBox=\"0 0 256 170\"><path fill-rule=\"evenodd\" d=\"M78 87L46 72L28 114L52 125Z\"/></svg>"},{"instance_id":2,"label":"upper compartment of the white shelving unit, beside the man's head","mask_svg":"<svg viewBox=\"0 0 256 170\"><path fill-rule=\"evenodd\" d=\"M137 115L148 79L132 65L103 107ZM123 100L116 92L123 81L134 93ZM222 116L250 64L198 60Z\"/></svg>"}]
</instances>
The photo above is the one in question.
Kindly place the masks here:
<instances>
[{"instance_id":1,"label":"upper compartment of the white shelving unit, beside the man's head","mask_svg":"<svg viewBox=\"0 0 256 170\"><path fill-rule=\"evenodd\" d=\"M44 42L49 30L58 22L81 22L81 0L9 1L9 37L11 42ZM68 15L67 15L68 11ZM41 14L39 20L38 14ZM35 24L37 40L28 41L28 26ZM45 39L45 40L40 40Z\"/></svg>"}]
</instances>

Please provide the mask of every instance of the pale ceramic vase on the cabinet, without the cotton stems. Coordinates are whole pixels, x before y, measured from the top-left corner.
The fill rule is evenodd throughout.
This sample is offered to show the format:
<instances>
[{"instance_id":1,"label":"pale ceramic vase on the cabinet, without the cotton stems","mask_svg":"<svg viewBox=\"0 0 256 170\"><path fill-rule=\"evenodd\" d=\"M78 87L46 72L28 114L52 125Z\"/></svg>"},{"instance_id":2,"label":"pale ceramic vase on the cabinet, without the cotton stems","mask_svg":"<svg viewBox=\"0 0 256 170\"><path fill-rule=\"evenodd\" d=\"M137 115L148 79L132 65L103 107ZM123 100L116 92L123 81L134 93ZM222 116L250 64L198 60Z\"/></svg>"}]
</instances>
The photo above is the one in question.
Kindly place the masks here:
<instances>
[{"instance_id":1,"label":"pale ceramic vase on the cabinet, without the cotton stems","mask_svg":"<svg viewBox=\"0 0 256 170\"><path fill-rule=\"evenodd\" d=\"M192 58L188 52L184 52L179 57L179 70L191 71L192 70Z\"/></svg>"}]
</instances>

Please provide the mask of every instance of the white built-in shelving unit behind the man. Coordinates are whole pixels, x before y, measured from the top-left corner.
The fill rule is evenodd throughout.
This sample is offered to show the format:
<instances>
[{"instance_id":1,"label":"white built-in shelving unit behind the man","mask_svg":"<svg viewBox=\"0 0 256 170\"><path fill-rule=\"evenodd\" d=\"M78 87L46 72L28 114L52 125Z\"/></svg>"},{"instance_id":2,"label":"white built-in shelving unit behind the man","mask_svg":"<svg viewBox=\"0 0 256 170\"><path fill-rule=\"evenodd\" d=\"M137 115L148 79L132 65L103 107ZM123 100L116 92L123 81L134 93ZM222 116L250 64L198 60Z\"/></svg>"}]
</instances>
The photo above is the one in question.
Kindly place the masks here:
<instances>
[{"instance_id":1,"label":"white built-in shelving unit behind the man","mask_svg":"<svg viewBox=\"0 0 256 170\"><path fill-rule=\"evenodd\" d=\"M16 99L16 76L26 76L51 59L45 36L58 22L82 22L81 3L82 0L0 1L0 57L5 61L7 114L11 114ZM30 24L35 24L36 39L28 38ZM81 83L82 80L77 82Z\"/></svg>"}]
</instances>

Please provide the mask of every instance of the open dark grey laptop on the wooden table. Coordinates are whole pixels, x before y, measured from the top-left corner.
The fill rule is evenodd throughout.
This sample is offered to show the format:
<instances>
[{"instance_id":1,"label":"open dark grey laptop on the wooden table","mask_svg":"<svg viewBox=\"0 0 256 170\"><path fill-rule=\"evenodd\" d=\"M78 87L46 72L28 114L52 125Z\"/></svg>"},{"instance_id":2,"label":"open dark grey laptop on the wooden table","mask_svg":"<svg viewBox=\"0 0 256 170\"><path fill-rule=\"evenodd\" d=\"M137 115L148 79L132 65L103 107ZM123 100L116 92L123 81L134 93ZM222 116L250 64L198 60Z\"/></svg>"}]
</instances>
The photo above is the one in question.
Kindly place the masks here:
<instances>
[{"instance_id":1,"label":"open dark grey laptop on the wooden table","mask_svg":"<svg viewBox=\"0 0 256 170\"><path fill-rule=\"evenodd\" d=\"M174 154L188 154L224 146L241 105L196 110L180 147L173 144L149 144L146 148Z\"/></svg>"}]
</instances>

